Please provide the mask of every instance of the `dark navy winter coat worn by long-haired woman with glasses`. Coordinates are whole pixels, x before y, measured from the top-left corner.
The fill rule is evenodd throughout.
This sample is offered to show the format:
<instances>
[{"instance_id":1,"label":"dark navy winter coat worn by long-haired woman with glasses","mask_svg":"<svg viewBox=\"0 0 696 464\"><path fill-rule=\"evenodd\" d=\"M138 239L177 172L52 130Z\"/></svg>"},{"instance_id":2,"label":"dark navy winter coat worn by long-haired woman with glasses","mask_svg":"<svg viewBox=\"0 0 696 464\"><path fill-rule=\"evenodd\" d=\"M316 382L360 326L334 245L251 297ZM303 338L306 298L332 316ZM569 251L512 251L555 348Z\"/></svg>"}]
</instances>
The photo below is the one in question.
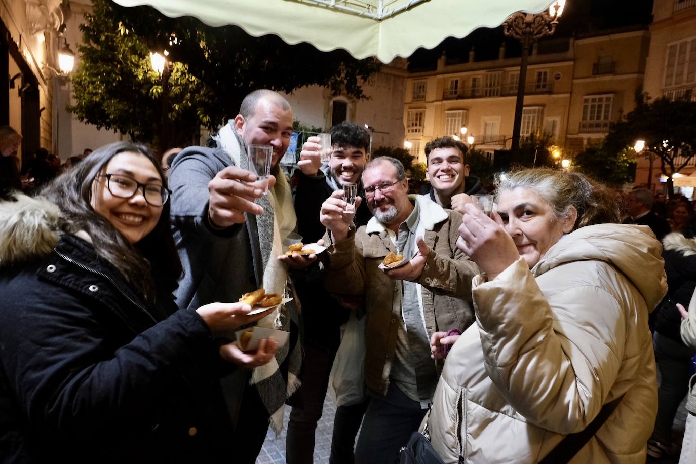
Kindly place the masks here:
<instances>
[{"instance_id":1,"label":"dark navy winter coat worn by long-haired woman with glasses","mask_svg":"<svg viewBox=\"0 0 696 464\"><path fill-rule=\"evenodd\" d=\"M3 266L0 294L1 463L222 461L231 424L198 313L148 308L70 235Z\"/></svg>"}]
</instances>

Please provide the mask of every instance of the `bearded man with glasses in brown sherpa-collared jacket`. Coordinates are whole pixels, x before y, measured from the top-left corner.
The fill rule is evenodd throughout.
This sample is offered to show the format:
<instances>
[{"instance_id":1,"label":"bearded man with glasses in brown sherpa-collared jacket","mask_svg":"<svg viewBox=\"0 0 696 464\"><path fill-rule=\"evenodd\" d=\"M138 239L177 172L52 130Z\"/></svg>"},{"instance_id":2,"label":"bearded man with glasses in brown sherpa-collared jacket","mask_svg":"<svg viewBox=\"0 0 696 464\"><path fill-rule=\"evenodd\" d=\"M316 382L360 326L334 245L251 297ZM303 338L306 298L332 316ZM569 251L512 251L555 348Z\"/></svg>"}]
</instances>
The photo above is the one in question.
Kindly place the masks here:
<instances>
[{"instance_id":1,"label":"bearded man with glasses in brown sherpa-collared jacket","mask_svg":"<svg viewBox=\"0 0 696 464\"><path fill-rule=\"evenodd\" d=\"M430 338L473 322L471 280L478 268L456 245L461 215L409 195L400 161L376 158L362 179L374 216L367 225L356 230L342 191L324 202L320 221L327 228L326 288L364 296L367 308L365 383L371 399L356 463L386 464L398 461L432 401L442 365L431 356ZM389 253L407 262L381 267Z\"/></svg>"}]
</instances>

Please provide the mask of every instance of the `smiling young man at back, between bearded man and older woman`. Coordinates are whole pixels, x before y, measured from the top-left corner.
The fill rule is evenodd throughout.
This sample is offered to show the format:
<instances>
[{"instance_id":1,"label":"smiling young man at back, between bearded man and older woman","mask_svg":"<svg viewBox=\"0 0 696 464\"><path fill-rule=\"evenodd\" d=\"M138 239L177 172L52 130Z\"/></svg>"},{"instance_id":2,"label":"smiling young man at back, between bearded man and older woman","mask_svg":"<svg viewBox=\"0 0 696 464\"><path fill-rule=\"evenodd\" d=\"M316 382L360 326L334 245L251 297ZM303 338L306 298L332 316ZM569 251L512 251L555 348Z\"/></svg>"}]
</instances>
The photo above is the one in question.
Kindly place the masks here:
<instances>
[{"instance_id":1,"label":"smiling young man at back, between bearded man and older woman","mask_svg":"<svg viewBox=\"0 0 696 464\"><path fill-rule=\"evenodd\" d=\"M464 214L468 195L486 193L478 177L469 175L468 147L452 137L436 138L425 144L426 178L430 199L443 208Z\"/></svg>"}]
</instances>

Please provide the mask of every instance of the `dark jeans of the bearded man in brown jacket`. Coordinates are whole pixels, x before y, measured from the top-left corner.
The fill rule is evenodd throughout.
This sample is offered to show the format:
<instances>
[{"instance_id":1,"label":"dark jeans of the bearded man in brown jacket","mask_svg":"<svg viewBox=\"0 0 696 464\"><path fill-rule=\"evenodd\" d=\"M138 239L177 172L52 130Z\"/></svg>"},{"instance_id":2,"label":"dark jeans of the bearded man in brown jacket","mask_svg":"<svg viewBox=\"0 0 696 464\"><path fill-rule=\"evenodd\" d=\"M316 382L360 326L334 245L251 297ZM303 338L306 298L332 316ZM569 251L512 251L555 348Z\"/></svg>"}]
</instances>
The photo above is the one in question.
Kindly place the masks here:
<instances>
[{"instance_id":1,"label":"dark jeans of the bearded man in brown jacket","mask_svg":"<svg viewBox=\"0 0 696 464\"><path fill-rule=\"evenodd\" d=\"M355 450L357 464L394 464L399 450L406 446L411 433L418 430L427 409L420 407L390 383L386 396L374 394L367 406L363 428Z\"/></svg>"}]
</instances>

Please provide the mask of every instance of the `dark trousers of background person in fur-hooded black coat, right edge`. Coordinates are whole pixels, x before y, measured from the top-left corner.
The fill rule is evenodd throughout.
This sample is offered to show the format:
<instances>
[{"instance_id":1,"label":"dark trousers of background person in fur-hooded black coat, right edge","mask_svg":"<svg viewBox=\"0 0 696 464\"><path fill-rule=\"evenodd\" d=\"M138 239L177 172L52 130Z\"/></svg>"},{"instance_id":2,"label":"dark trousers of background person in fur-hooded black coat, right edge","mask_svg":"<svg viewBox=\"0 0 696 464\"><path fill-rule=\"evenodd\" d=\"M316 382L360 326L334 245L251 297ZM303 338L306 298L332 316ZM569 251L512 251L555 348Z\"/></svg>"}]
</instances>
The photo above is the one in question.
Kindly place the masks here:
<instances>
[{"instance_id":1,"label":"dark trousers of background person in fur-hooded black coat, right edge","mask_svg":"<svg viewBox=\"0 0 696 464\"><path fill-rule=\"evenodd\" d=\"M672 442L672 424L679 404L688 393L691 358L694 351L685 344L677 342L660 333L655 333L655 360L660 369L660 386L657 390L657 418L655 419L655 440Z\"/></svg>"}]
</instances>

